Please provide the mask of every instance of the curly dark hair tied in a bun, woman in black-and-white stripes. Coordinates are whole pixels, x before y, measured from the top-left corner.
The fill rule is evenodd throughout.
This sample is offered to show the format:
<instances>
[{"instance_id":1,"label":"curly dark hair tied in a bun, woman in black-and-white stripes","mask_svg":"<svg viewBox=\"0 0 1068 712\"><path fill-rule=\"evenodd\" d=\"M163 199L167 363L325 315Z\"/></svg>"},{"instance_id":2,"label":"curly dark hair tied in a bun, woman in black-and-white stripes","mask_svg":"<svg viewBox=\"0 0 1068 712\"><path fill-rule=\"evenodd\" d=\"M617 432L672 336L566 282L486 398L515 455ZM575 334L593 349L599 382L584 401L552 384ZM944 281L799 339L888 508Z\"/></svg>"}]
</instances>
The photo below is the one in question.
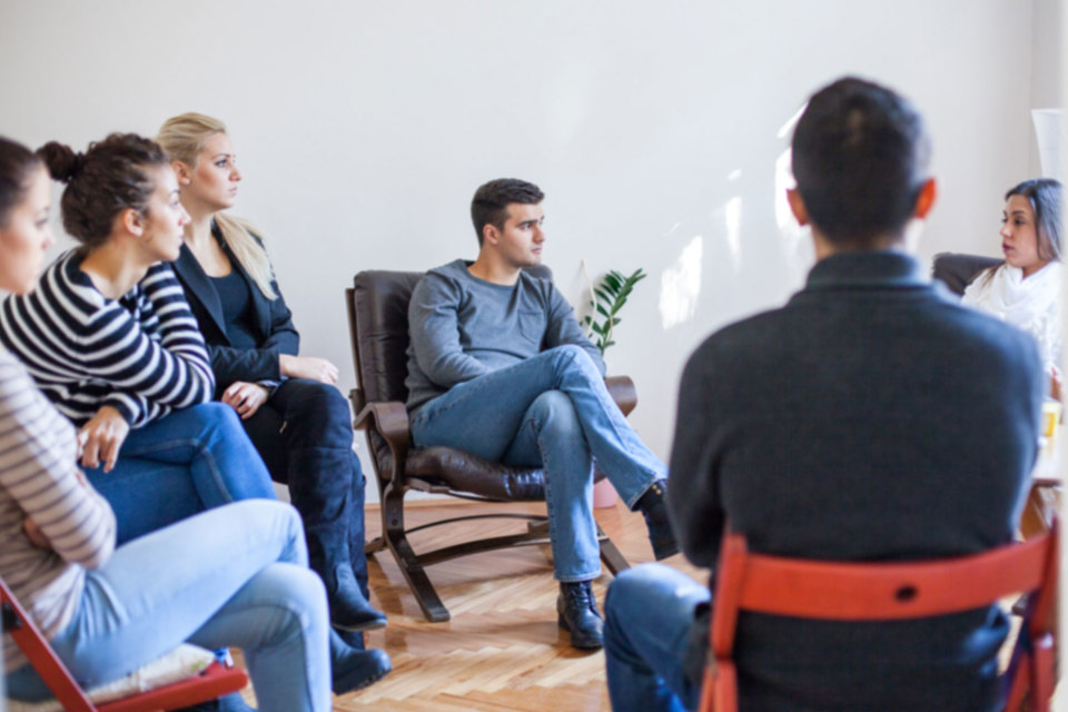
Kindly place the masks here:
<instances>
[{"instance_id":1,"label":"curly dark hair tied in a bun, woman in black-and-white stripes","mask_svg":"<svg viewBox=\"0 0 1068 712\"><path fill-rule=\"evenodd\" d=\"M148 169L170 165L156 141L136 134L111 134L85 154L57 141L37 154L52 178L67 184L60 200L63 228L89 249L108 239L122 210L146 212L156 190Z\"/></svg>"}]
</instances>

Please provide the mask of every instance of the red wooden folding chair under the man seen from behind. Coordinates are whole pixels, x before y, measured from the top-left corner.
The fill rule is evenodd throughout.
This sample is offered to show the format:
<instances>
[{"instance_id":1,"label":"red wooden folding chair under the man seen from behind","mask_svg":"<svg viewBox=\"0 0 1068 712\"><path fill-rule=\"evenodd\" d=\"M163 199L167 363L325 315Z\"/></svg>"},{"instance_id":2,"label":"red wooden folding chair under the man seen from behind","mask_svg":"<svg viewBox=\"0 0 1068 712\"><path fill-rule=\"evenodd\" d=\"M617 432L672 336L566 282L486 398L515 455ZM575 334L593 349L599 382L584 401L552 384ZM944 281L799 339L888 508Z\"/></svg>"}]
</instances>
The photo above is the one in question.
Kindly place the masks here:
<instances>
[{"instance_id":1,"label":"red wooden folding chair under the man seen from behind","mask_svg":"<svg viewBox=\"0 0 1068 712\"><path fill-rule=\"evenodd\" d=\"M829 621L892 621L980 609L1030 593L1007 672L1008 712L1029 698L1046 712L1054 693L1054 605L1059 536L1046 534L981 554L909 563L838 563L749 553L741 534L723 540L701 712L738 712L732 660L738 612Z\"/></svg>"}]
</instances>

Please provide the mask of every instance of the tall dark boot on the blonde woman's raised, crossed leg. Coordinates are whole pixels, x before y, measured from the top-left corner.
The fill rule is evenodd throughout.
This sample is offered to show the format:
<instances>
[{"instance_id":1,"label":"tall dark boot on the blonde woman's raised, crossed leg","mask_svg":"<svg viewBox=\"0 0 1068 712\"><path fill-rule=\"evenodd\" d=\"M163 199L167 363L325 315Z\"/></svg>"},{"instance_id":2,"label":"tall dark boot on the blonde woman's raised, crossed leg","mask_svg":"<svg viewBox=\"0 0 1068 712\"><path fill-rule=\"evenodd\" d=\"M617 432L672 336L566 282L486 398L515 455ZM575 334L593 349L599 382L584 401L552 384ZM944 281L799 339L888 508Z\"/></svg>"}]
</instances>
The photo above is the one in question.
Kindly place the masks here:
<instances>
[{"instance_id":1,"label":"tall dark boot on the blonde woman's raised, crossed leg","mask_svg":"<svg viewBox=\"0 0 1068 712\"><path fill-rule=\"evenodd\" d=\"M349 556L352 451L303 447L289 452L289 496L304 520L308 564L326 584L330 623L347 631L386 625L359 590Z\"/></svg>"}]
</instances>

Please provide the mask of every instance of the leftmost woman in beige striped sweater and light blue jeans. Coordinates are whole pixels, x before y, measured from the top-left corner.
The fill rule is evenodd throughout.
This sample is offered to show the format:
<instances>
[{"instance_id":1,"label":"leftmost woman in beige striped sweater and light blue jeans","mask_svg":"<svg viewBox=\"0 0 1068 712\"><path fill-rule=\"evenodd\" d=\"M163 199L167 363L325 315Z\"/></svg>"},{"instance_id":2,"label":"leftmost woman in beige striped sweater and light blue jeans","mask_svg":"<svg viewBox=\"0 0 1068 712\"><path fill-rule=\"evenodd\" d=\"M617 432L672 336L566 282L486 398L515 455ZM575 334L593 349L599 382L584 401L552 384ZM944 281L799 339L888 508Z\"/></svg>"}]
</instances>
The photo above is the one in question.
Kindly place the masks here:
<instances>
[{"instance_id":1,"label":"leftmost woman in beige striped sweater and light blue jeans","mask_svg":"<svg viewBox=\"0 0 1068 712\"><path fill-rule=\"evenodd\" d=\"M51 243L48 207L41 161L0 138L0 289L33 288ZM238 645L260 710L329 710L326 597L305 567L296 511L240 502L116 548L115 515L78 471L78 447L70 423L0 347L0 577L75 678L108 682L187 640ZM364 680L358 655L346 672ZM8 694L43 696L10 637L3 661Z\"/></svg>"}]
</instances>

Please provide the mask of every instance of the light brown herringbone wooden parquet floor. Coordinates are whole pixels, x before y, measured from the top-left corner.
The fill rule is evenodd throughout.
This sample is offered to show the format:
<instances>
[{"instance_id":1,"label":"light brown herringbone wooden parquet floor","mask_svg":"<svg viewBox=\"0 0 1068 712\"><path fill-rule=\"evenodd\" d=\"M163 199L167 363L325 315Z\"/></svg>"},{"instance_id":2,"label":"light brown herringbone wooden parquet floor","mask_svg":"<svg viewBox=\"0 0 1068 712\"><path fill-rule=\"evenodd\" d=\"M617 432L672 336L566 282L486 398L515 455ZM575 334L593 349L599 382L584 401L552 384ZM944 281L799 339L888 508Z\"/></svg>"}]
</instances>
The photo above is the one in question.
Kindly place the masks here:
<instances>
[{"instance_id":1,"label":"light brown herringbone wooden parquet floor","mask_svg":"<svg viewBox=\"0 0 1068 712\"><path fill-rule=\"evenodd\" d=\"M423 504L423 503L419 503ZM429 505L411 507L408 526L446 516L488 512L543 513L544 505ZM631 564L652 561L641 514L622 504L596 510L597 521ZM523 531L521 520L481 520L418 532L416 552L473 536ZM367 512L367 536L380 531ZM421 548L422 545L422 548ZM699 575L681 555L668 565ZM610 710L604 654L571 647L556 626L557 584L547 546L475 554L427 568L452 619L428 623L387 552L369 560L372 601L389 625L367 635L369 646L393 656L394 671L377 684L334 699L334 710L379 712L595 712ZM603 609L612 580L594 582ZM251 702L251 691L246 691Z\"/></svg>"}]
</instances>

